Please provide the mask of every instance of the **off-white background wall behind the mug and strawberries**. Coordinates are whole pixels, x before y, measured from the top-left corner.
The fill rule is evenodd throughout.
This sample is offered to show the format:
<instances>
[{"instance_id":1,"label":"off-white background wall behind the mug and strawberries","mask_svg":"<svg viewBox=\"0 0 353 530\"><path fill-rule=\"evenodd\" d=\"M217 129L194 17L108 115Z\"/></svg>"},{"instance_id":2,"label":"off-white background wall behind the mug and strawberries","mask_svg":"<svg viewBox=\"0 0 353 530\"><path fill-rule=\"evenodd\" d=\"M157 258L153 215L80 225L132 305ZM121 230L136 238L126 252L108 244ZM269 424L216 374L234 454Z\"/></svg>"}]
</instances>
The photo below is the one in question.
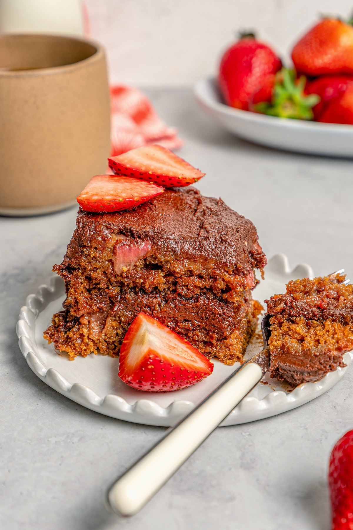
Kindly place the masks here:
<instances>
[{"instance_id":1,"label":"off-white background wall behind the mug and strawberries","mask_svg":"<svg viewBox=\"0 0 353 530\"><path fill-rule=\"evenodd\" d=\"M319 13L351 14L351 0L85 0L111 81L188 85L215 71L239 29L258 30L286 57Z\"/></svg>"}]
</instances>

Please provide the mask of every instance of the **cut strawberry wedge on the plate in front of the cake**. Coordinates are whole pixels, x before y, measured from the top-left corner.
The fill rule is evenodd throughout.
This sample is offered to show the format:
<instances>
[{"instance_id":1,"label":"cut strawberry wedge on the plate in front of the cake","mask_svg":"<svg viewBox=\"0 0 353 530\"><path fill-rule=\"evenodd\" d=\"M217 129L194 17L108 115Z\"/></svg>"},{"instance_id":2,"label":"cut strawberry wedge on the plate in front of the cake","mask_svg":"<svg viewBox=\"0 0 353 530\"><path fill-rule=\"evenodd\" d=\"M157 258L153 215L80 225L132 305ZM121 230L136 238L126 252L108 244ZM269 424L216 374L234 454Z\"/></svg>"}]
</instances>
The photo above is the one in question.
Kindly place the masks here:
<instances>
[{"instance_id":1,"label":"cut strawberry wedge on the plate in front of the cake","mask_svg":"<svg viewBox=\"0 0 353 530\"><path fill-rule=\"evenodd\" d=\"M137 390L179 390L212 370L211 361L187 340L144 313L132 322L121 345L118 375Z\"/></svg>"}]
</instances>

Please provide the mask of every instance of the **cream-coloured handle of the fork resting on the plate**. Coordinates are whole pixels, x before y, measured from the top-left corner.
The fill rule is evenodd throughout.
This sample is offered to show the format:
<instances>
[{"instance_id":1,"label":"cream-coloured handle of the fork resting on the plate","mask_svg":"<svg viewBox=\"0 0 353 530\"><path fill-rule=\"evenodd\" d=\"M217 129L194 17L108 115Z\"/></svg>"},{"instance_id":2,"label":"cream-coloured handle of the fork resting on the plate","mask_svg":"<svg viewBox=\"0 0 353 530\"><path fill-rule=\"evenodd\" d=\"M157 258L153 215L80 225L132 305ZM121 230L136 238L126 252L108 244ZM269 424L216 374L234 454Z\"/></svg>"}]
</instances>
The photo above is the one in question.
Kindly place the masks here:
<instances>
[{"instance_id":1,"label":"cream-coloured handle of the fork resting on the plate","mask_svg":"<svg viewBox=\"0 0 353 530\"><path fill-rule=\"evenodd\" d=\"M220 425L263 376L255 363L246 364L133 464L108 491L116 514L136 514L179 469L198 446Z\"/></svg>"}]
</instances>

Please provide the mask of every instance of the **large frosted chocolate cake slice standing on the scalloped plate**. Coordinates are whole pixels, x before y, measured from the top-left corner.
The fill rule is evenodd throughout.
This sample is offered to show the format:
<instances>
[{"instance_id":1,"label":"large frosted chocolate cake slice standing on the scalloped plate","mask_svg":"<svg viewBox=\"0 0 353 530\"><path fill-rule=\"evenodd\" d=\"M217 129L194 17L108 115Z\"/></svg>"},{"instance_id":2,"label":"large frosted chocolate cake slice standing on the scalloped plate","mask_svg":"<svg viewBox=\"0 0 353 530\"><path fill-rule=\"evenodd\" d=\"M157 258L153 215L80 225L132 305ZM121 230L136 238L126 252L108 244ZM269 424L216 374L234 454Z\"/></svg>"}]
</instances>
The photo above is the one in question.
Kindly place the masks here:
<instances>
[{"instance_id":1,"label":"large frosted chocolate cake slice standing on the scalloped plate","mask_svg":"<svg viewBox=\"0 0 353 530\"><path fill-rule=\"evenodd\" d=\"M174 188L137 208L79 210L64 261L64 311L44 337L71 358L119 355L146 313L207 357L242 359L261 306L251 298L265 254L255 226L221 199Z\"/></svg>"}]
</instances>

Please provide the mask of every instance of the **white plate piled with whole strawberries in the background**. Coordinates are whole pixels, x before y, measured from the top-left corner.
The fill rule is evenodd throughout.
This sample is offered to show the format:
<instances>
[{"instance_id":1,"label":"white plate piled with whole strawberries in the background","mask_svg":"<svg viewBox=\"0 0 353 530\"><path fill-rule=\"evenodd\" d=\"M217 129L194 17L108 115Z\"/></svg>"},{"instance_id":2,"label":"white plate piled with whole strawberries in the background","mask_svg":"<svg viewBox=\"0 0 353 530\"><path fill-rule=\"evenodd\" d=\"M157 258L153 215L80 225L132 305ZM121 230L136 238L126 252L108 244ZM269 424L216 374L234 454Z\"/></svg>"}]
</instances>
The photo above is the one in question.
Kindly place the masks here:
<instances>
[{"instance_id":1,"label":"white plate piled with whole strawberries in the background","mask_svg":"<svg viewBox=\"0 0 353 530\"><path fill-rule=\"evenodd\" d=\"M286 67L254 33L224 51L217 78L200 81L197 101L231 133L315 155L353 156L352 19L322 16L299 37Z\"/></svg>"}]
</instances>

